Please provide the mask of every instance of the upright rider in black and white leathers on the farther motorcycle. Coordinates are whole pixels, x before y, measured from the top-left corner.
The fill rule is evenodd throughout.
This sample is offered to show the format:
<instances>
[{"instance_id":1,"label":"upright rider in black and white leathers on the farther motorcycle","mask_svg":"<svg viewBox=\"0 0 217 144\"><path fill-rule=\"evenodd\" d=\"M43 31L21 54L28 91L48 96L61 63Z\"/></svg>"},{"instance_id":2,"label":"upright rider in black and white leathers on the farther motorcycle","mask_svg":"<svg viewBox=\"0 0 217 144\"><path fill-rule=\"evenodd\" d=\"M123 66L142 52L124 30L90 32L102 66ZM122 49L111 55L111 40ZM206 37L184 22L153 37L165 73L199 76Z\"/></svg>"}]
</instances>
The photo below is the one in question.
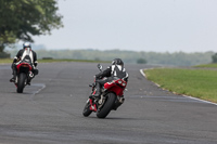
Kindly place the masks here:
<instances>
[{"instance_id":1,"label":"upright rider in black and white leathers on the farther motorcycle","mask_svg":"<svg viewBox=\"0 0 217 144\"><path fill-rule=\"evenodd\" d=\"M29 48L29 49L28 49ZM29 51L28 51L29 50ZM17 69L16 69L16 65L18 64L18 62L22 62L24 58L29 58L30 60L30 65L33 67L31 71L35 75L38 75L38 69L36 68L36 66L38 65L37 62L37 54L35 51L31 50L31 45L29 42L24 42L23 43L23 49L21 49L16 56L13 60L13 63L11 65L12 68L12 75L13 77L10 79L10 82L14 82L16 75L17 75ZM30 81L28 81L28 84L30 84Z\"/></svg>"}]
</instances>

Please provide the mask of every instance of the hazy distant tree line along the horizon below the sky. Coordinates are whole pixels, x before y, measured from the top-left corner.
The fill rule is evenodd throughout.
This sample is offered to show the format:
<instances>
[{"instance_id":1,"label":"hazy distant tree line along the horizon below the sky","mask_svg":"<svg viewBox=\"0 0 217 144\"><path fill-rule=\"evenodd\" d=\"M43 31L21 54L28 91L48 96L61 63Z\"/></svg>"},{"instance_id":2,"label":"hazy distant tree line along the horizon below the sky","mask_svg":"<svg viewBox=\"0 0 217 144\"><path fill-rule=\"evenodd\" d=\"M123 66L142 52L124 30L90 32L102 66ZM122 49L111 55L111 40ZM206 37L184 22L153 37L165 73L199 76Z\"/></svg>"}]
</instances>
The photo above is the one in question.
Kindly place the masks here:
<instances>
[{"instance_id":1,"label":"hazy distant tree line along the horizon below the sky","mask_svg":"<svg viewBox=\"0 0 217 144\"><path fill-rule=\"evenodd\" d=\"M9 51L13 57L17 50ZM174 66L193 66L200 64L212 63L214 52L136 52L136 51L120 51L120 50L36 50L38 58L68 58L68 60L95 60L95 61L112 61L120 57L125 63L138 64L157 64L157 65L174 65Z\"/></svg>"}]
</instances>

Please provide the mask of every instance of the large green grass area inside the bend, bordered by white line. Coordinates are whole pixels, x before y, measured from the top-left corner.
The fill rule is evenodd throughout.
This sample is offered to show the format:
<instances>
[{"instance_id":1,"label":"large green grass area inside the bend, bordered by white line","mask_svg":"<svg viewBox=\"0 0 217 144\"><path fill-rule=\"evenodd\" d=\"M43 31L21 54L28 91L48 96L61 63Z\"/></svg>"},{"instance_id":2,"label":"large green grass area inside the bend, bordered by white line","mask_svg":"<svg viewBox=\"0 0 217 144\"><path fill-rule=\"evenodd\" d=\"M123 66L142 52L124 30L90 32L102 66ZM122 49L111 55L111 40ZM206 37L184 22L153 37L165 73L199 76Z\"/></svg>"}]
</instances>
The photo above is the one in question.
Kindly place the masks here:
<instances>
[{"instance_id":1,"label":"large green grass area inside the bend, bordered by white line","mask_svg":"<svg viewBox=\"0 0 217 144\"><path fill-rule=\"evenodd\" d=\"M144 73L163 89L217 103L217 70L156 68Z\"/></svg>"}]
</instances>

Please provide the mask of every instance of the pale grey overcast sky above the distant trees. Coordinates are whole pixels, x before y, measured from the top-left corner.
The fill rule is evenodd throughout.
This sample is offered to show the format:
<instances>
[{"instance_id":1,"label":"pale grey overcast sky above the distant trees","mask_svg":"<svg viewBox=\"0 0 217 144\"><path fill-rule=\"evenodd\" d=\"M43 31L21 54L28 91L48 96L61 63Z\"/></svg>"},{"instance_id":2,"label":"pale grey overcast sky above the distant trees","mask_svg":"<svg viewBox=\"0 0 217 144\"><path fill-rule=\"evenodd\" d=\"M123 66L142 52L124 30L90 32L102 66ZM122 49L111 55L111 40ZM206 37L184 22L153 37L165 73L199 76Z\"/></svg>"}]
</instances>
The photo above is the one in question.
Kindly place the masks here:
<instances>
[{"instance_id":1,"label":"pale grey overcast sky above the distant trees","mask_svg":"<svg viewBox=\"0 0 217 144\"><path fill-rule=\"evenodd\" d=\"M47 49L217 51L217 0L59 0L64 27Z\"/></svg>"}]
</instances>

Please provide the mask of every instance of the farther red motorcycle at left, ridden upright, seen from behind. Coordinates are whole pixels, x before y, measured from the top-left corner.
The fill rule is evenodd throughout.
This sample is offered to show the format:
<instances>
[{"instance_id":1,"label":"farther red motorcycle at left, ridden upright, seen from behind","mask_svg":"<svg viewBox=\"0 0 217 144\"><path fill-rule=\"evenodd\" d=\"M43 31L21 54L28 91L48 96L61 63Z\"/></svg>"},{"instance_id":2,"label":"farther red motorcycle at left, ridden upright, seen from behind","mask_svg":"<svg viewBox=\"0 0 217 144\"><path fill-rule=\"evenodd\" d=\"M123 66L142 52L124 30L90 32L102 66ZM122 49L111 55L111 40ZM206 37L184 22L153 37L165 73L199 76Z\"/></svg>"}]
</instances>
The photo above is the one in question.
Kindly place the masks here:
<instances>
[{"instance_id":1,"label":"farther red motorcycle at left, ridden upright, seen from behind","mask_svg":"<svg viewBox=\"0 0 217 144\"><path fill-rule=\"evenodd\" d=\"M34 78L33 67L30 65L29 58L24 58L23 61L16 63L16 78L14 84L16 86L16 92L23 93L25 86L30 83L30 80Z\"/></svg>"}]
</instances>

